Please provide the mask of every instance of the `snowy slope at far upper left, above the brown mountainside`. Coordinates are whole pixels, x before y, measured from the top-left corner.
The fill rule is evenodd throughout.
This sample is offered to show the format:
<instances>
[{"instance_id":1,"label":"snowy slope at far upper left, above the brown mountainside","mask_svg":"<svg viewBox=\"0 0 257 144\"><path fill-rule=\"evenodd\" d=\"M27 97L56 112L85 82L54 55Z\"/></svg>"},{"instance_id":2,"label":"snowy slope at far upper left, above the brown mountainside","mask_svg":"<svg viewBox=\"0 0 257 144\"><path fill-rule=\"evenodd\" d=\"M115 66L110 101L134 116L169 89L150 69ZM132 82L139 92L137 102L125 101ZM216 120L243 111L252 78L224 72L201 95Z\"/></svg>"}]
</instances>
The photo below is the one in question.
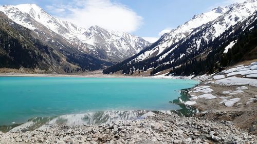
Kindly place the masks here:
<instances>
[{"instance_id":1,"label":"snowy slope at far upper left, above the brown mountainside","mask_svg":"<svg viewBox=\"0 0 257 144\"><path fill-rule=\"evenodd\" d=\"M27 21L28 16L32 17L34 20L36 20L36 22L39 22L40 24L46 26L48 29L62 35L67 39L69 36L82 33L84 31L84 29L74 24L64 22L49 15L35 4L22 4L16 6L5 5L0 7L0 10L3 11L17 24L20 24L31 30L36 29L36 27Z\"/></svg>"}]
</instances>

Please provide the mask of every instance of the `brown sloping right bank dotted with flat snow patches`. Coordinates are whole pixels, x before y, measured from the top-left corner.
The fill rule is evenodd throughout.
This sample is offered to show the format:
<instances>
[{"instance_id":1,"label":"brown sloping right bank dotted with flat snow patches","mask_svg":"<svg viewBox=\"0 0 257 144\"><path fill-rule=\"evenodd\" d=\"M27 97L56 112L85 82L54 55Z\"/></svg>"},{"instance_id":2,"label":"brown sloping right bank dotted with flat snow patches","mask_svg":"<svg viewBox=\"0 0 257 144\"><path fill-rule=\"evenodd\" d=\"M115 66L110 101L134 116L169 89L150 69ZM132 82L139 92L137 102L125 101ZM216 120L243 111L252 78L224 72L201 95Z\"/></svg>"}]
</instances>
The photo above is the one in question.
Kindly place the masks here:
<instances>
[{"instance_id":1,"label":"brown sloping right bank dotted with flat snow patches","mask_svg":"<svg viewBox=\"0 0 257 144\"><path fill-rule=\"evenodd\" d=\"M230 120L257 135L257 62L238 64L210 75L189 90L186 105L197 108L197 117Z\"/></svg>"}]
</instances>

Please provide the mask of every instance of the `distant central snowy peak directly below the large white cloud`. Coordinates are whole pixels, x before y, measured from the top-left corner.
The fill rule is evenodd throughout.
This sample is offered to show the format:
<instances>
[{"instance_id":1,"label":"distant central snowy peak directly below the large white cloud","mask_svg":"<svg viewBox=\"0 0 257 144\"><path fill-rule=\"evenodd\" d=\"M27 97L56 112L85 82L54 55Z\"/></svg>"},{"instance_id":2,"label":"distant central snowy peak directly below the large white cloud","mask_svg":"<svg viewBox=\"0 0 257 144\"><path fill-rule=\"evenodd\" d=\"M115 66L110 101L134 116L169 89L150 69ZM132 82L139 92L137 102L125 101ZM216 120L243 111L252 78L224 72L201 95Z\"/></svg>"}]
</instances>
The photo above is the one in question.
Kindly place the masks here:
<instances>
[{"instance_id":1,"label":"distant central snowy peak directly below the large white cloud","mask_svg":"<svg viewBox=\"0 0 257 144\"><path fill-rule=\"evenodd\" d=\"M103 57L114 61L131 57L143 50L150 43L143 38L125 32L108 31L98 26L91 26L82 36L80 50L93 54L96 57ZM84 46L88 44L88 46Z\"/></svg>"}]
</instances>

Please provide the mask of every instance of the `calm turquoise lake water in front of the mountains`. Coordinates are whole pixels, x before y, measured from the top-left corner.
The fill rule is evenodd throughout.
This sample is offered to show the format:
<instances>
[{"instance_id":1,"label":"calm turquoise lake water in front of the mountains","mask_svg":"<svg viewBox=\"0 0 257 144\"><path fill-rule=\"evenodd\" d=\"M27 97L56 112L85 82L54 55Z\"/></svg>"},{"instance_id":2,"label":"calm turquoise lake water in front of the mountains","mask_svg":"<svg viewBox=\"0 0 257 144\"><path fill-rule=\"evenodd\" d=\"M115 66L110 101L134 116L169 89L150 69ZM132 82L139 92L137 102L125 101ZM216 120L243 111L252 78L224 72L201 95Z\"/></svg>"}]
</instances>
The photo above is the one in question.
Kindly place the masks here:
<instances>
[{"instance_id":1,"label":"calm turquoise lake water in front of the mountains","mask_svg":"<svg viewBox=\"0 0 257 144\"><path fill-rule=\"evenodd\" d=\"M33 117L107 110L177 110L185 79L0 77L0 125Z\"/></svg>"}]
</instances>

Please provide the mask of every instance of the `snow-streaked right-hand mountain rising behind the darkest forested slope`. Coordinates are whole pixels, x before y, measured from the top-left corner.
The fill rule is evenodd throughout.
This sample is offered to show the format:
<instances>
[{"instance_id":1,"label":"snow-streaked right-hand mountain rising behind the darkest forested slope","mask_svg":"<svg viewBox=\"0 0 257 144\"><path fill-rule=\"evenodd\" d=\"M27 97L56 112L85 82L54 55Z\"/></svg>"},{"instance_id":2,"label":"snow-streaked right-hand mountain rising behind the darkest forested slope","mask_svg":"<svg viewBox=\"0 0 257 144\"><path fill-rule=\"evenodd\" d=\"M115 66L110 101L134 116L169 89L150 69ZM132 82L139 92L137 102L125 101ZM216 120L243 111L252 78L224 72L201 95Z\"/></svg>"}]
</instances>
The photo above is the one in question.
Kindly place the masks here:
<instances>
[{"instance_id":1,"label":"snow-streaked right-hand mountain rising behind the darkest forested slope","mask_svg":"<svg viewBox=\"0 0 257 144\"><path fill-rule=\"evenodd\" d=\"M247 0L195 15L185 24L163 34L153 45L106 69L104 73L120 70L130 73L130 70L145 71L151 68L152 74L155 74L161 70L179 67L186 60L190 60L188 58L199 57L207 49L211 52L213 46L210 44L214 39L226 31L233 32L233 26L240 25L248 17L255 15L256 10L257 1ZM225 42L226 38L222 40ZM208 52L203 58L206 55Z\"/></svg>"}]
</instances>

